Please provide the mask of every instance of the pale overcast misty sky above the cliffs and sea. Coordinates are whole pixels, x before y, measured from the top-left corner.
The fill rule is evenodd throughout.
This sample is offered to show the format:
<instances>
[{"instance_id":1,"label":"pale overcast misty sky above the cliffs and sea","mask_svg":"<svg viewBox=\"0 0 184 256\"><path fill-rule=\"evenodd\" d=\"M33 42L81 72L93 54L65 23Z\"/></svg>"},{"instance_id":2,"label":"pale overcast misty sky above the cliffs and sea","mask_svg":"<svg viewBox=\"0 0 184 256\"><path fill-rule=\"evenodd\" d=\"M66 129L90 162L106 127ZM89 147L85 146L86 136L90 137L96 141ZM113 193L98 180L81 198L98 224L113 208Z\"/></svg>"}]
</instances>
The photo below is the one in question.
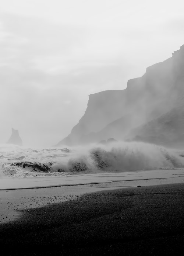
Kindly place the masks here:
<instances>
[{"instance_id":1,"label":"pale overcast misty sky above the cliffs and sea","mask_svg":"<svg viewBox=\"0 0 184 256\"><path fill-rule=\"evenodd\" d=\"M0 143L50 146L88 95L127 80L184 44L183 0L0 0Z\"/></svg>"}]
</instances>

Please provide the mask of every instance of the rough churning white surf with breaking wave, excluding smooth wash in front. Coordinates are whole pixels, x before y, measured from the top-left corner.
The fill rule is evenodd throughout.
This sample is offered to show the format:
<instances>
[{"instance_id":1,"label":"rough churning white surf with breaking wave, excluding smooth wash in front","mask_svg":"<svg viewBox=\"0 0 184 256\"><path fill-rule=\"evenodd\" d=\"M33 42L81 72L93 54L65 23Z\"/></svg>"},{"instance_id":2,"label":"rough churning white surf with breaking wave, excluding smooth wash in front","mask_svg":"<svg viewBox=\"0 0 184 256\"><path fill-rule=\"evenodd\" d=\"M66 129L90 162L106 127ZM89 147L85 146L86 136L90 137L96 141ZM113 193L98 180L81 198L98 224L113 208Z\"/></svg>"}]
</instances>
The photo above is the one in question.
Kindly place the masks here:
<instances>
[{"instance_id":1,"label":"rough churning white surf with breaking wave, excluding smooth wash in front","mask_svg":"<svg viewBox=\"0 0 184 256\"><path fill-rule=\"evenodd\" d=\"M0 178L182 167L183 152L141 142L45 149L0 145Z\"/></svg>"}]
</instances>

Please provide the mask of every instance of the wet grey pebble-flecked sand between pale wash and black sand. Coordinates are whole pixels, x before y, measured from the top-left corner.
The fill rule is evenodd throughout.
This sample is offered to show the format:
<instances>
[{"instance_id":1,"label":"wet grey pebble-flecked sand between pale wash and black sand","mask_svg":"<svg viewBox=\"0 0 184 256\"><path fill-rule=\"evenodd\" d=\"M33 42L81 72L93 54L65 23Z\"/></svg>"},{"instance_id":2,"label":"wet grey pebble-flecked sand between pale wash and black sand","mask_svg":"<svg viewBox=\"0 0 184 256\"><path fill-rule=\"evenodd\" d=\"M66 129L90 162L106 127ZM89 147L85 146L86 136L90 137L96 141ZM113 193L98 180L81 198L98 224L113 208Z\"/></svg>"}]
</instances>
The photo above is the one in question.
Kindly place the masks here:
<instances>
[{"instance_id":1,"label":"wet grey pebble-flecked sand between pale wash and black sand","mask_svg":"<svg viewBox=\"0 0 184 256\"><path fill-rule=\"evenodd\" d=\"M22 215L21 211L24 209L39 208L53 203L72 201L84 194L97 191L179 183L184 183L184 177L178 176L164 179L124 180L111 181L108 183L0 190L0 224L20 218Z\"/></svg>"}]
</instances>

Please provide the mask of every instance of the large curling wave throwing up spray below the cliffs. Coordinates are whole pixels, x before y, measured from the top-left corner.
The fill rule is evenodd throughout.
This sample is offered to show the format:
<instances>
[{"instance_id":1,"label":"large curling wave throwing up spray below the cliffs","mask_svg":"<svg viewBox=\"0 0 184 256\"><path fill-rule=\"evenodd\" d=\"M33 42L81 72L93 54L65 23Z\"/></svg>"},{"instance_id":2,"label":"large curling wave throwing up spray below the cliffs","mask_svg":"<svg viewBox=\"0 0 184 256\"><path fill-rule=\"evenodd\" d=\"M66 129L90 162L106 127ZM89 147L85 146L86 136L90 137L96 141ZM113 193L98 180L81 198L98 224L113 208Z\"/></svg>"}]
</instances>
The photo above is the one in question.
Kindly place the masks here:
<instances>
[{"instance_id":1,"label":"large curling wave throwing up spray below the cliffs","mask_svg":"<svg viewBox=\"0 0 184 256\"><path fill-rule=\"evenodd\" d=\"M85 149L85 152L84 152ZM119 142L78 148L66 161L57 161L52 169L71 173L127 172L137 170L183 168L181 152L141 142Z\"/></svg>"}]
</instances>

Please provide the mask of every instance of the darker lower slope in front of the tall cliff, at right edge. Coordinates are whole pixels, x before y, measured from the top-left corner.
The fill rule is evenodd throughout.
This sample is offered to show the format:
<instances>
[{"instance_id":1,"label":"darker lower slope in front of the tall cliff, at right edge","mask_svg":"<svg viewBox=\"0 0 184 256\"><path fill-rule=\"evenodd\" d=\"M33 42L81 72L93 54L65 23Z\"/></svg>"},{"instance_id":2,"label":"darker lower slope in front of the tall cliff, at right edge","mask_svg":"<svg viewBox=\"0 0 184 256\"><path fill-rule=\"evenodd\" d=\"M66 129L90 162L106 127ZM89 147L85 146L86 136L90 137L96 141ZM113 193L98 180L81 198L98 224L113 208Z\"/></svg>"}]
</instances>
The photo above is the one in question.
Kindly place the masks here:
<instances>
[{"instance_id":1,"label":"darker lower slope in front of the tall cliff, at right edge","mask_svg":"<svg viewBox=\"0 0 184 256\"><path fill-rule=\"evenodd\" d=\"M133 129L128 136L132 141L184 149L184 103Z\"/></svg>"}]
</instances>

